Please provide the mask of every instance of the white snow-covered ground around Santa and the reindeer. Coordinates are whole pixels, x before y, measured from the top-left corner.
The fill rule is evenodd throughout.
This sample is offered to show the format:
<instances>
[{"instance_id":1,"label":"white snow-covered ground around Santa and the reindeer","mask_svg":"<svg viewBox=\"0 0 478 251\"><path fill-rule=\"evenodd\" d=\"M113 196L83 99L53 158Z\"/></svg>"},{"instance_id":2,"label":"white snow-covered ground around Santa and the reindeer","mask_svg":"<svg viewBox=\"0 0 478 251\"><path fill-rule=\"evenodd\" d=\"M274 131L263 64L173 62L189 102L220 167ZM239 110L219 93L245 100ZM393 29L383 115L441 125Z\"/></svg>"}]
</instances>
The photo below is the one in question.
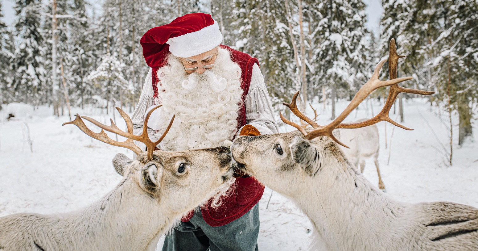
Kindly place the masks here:
<instances>
[{"instance_id":1,"label":"white snow-covered ground around Santa and the reindeer","mask_svg":"<svg viewBox=\"0 0 478 251\"><path fill-rule=\"evenodd\" d=\"M337 110L346 105L347 102L339 102ZM330 107L324 111L321 104L315 104L315 107L321 114L319 124L328 122ZM375 101L373 111L378 112L380 108L380 102ZM478 207L476 124L473 141L466 142L461 148L456 144L457 128L454 126L453 165L448 166L443 153L444 147L449 148L447 114L430 107L426 99L406 101L404 111L403 124L415 131L393 129L387 124L388 148L385 148L384 122L378 124L380 171L388 196L406 202L445 200ZM16 212L46 214L76 210L104 196L120 181L111 159L116 153L130 155L129 150L92 140L76 126L62 127L63 122L69 121L68 116L53 117L47 107L37 109L33 118L26 122L24 119L6 121L2 112L0 217ZM76 112L103 123L111 117L111 114L104 114L99 109L73 108L72 114ZM307 113L312 113L310 108ZM347 120L370 116L370 103L364 103ZM396 116L391 112L392 119ZM121 128L123 123L118 113L116 120ZM454 124L456 121L454 118ZM91 128L94 126L91 125ZM287 126L281 129L291 131L293 128ZM28 131L33 141L33 153L27 142ZM392 131L393 138L390 140ZM390 163L387 165L390 149ZM367 162L365 176L372 184L377 184L371 159ZM260 201L260 213L260 250L307 250L312 226L292 202L266 189Z\"/></svg>"}]
</instances>

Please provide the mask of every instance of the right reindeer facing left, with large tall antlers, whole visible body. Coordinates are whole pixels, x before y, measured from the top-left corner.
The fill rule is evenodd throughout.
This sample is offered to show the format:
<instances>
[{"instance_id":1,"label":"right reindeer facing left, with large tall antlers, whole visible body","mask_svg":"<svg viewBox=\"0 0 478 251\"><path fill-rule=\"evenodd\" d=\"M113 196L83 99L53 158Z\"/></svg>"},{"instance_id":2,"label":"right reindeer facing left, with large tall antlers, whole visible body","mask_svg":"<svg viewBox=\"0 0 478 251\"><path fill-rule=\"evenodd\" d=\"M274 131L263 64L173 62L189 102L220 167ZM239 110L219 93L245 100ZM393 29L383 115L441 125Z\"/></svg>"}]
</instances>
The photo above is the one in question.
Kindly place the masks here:
<instances>
[{"instance_id":1,"label":"right reindeer facing left, with large tall antlers, whole visible body","mask_svg":"<svg viewBox=\"0 0 478 251\"><path fill-rule=\"evenodd\" d=\"M394 48L389 64L396 67L399 55ZM380 81L385 61L330 124L321 127L298 111L296 93L291 104L284 104L314 129L306 131L280 114L298 131L239 136L231 145L233 159L241 171L289 197L304 211L313 224L315 250L477 251L477 208L451 202L395 201L370 184L338 147L345 145L336 138L333 130L337 128L361 128L384 120L411 130L388 116L398 93L433 94L398 86L412 77ZM391 86L389 96L377 116L341 123L373 90L386 86Z\"/></svg>"}]
</instances>

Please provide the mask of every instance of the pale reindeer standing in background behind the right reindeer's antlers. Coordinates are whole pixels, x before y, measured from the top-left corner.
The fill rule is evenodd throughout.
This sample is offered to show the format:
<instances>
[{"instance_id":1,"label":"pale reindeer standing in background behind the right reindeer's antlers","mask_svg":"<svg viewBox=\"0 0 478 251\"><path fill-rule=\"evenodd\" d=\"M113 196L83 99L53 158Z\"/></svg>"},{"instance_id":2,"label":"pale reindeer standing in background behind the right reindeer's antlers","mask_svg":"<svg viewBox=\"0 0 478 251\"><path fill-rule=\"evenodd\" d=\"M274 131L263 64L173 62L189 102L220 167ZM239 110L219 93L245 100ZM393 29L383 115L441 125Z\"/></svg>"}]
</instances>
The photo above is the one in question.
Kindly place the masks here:
<instances>
[{"instance_id":1,"label":"pale reindeer standing in background behind the right reindeer's antlers","mask_svg":"<svg viewBox=\"0 0 478 251\"><path fill-rule=\"evenodd\" d=\"M367 119L357 120L351 123L363 122ZM373 157L373 162L377 168L377 175L379 176L379 188L386 192L382 177L380 176L379 168L379 129L377 125L373 124L367 127L357 129L340 129L340 141L348 147L340 146L348 161L355 164L357 168L360 165L360 172L363 173L365 169L365 160Z\"/></svg>"}]
</instances>

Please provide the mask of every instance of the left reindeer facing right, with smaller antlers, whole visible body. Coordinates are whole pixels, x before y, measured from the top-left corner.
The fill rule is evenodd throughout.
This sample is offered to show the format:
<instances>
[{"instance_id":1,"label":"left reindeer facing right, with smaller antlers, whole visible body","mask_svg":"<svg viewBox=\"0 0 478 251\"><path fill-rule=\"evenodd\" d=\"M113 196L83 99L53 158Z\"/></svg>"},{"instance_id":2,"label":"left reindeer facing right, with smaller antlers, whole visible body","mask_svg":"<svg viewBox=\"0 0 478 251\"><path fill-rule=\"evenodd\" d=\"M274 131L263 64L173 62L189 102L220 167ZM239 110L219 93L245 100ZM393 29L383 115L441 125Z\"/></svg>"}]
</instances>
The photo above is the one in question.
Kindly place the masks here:
<instances>
[{"instance_id":1,"label":"left reindeer facing right, with smaller antlers, whole visible body","mask_svg":"<svg viewBox=\"0 0 478 251\"><path fill-rule=\"evenodd\" d=\"M106 126L82 118L127 137L124 142L111 140L103 130L90 131L78 114L65 124L74 124L92 138L137 154L135 160L121 153L114 157L114 168L124 177L120 184L99 201L76 212L19 213L0 218L0 251L153 251L159 238L177 220L228 184L233 175L228 148L154 151L174 117L163 136L152 142L147 134L152 111L145 118L143 133L137 136L132 134L130 117L117 109L128 132L118 129L113 121ZM147 152L143 153L133 140L145 143Z\"/></svg>"}]
</instances>

